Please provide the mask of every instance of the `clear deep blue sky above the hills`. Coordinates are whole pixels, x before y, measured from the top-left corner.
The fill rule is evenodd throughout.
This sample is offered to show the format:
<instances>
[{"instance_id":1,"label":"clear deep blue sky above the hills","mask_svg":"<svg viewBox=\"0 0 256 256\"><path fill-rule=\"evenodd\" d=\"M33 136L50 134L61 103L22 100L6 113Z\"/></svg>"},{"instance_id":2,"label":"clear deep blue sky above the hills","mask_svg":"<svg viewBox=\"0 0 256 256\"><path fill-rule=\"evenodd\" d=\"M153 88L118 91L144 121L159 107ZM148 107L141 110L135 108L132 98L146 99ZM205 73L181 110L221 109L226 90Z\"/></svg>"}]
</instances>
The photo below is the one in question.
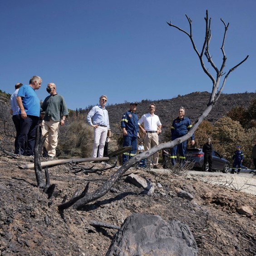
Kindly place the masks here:
<instances>
[{"instance_id":1,"label":"clear deep blue sky above the hills","mask_svg":"<svg viewBox=\"0 0 256 256\"><path fill-rule=\"evenodd\" d=\"M0 89L13 93L16 83L39 75L39 99L54 82L70 109L94 105L102 94L112 104L211 91L189 38L166 23L188 31L187 14L200 50L206 9L215 64L222 61L221 18L230 23L226 70L249 55L223 92L256 92L255 0L2 0Z\"/></svg>"}]
</instances>

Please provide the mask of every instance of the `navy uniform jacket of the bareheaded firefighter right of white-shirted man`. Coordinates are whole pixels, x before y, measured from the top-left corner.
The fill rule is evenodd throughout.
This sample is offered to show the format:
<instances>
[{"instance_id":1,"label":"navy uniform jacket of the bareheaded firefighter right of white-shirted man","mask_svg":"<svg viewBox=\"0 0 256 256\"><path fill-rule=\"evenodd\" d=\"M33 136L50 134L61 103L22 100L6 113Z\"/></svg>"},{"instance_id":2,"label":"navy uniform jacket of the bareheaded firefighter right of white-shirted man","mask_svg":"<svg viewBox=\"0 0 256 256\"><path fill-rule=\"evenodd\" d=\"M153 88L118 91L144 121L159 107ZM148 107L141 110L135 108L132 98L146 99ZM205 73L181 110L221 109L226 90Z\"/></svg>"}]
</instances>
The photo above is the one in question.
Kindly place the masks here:
<instances>
[{"instance_id":1,"label":"navy uniform jacket of the bareheaded firefighter right of white-shirted man","mask_svg":"<svg viewBox=\"0 0 256 256\"><path fill-rule=\"evenodd\" d=\"M183 135L187 134L187 131L189 131L191 128L192 128L192 124L189 118L177 117L172 122L172 127L171 127L172 139L182 137ZM191 136L191 140L194 140L194 138L195 138L195 135L193 133Z\"/></svg>"}]
</instances>

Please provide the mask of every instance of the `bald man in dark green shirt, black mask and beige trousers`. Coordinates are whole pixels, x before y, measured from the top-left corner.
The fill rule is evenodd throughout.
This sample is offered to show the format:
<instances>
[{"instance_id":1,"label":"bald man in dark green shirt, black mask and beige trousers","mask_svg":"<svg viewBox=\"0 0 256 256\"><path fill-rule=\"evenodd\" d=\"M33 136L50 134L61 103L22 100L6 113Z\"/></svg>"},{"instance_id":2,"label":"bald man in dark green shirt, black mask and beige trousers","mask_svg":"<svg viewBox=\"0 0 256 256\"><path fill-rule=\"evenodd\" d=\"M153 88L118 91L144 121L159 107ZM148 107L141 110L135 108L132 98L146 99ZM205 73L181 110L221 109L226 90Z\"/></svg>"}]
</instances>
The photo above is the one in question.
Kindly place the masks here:
<instances>
[{"instance_id":1,"label":"bald man in dark green shirt, black mask and beige trousers","mask_svg":"<svg viewBox=\"0 0 256 256\"><path fill-rule=\"evenodd\" d=\"M44 99L41 106L41 112L45 112L42 122L42 137L46 136L44 147L48 151L48 157L53 159L58 144L59 125L64 125L69 112L64 98L56 93L54 83L49 83L46 90L50 95Z\"/></svg>"}]
</instances>

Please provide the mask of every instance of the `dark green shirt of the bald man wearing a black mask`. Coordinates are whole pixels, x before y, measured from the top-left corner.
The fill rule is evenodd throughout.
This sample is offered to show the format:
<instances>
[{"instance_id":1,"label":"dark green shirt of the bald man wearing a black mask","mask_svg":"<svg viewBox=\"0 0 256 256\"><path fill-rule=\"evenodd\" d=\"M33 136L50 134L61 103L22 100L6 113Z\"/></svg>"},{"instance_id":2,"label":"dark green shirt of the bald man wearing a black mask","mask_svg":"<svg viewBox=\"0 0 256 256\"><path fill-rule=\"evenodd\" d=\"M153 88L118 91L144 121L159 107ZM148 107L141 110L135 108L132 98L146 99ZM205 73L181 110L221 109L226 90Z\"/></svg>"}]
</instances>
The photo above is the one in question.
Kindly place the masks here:
<instances>
[{"instance_id":1,"label":"dark green shirt of the bald man wearing a black mask","mask_svg":"<svg viewBox=\"0 0 256 256\"><path fill-rule=\"evenodd\" d=\"M44 99L41 106L41 111L45 111L44 121L50 121L50 118L55 122L69 114L64 98L60 94L49 95Z\"/></svg>"}]
</instances>

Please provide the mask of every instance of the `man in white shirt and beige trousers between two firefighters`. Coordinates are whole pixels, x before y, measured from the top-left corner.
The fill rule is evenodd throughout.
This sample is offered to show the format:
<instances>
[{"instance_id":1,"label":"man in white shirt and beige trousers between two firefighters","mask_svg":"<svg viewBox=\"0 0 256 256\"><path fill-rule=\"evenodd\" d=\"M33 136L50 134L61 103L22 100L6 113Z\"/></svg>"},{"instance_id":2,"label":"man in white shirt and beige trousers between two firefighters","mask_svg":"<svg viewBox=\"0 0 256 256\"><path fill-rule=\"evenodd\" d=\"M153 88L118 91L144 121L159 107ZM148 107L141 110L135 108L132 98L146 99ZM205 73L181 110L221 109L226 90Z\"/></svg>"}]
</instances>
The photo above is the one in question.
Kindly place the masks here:
<instances>
[{"instance_id":1,"label":"man in white shirt and beige trousers between two firefighters","mask_svg":"<svg viewBox=\"0 0 256 256\"><path fill-rule=\"evenodd\" d=\"M138 121L139 128L144 133L144 143L146 150L158 145L158 135L161 133L162 123L159 117L154 114L156 105L151 103L149 106L149 113L144 114ZM144 128L141 124L144 123ZM150 165L150 158L148 158L148 166ZM158 169L158 152L153 154L153 168Z\"/></svg>"}]
</instances>

